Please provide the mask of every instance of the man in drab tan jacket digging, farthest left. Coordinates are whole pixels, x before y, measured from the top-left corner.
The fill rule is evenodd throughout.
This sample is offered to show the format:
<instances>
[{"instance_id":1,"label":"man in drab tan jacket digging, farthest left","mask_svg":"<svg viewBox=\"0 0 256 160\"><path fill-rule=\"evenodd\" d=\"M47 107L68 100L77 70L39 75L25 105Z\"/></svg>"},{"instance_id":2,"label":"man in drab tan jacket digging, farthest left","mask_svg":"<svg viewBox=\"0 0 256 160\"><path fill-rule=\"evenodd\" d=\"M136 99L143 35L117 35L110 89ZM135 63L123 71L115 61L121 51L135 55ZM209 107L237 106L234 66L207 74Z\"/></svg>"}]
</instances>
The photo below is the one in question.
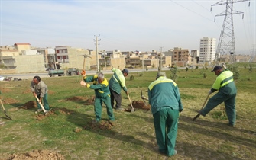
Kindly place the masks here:
<instances>
[{"instance_id":1,"label":"man in drab tan jacket digging, farthest left","mask_svg":"<svg viewBox=\"0 0 256 160\"><path fill-rule=\"evenodd\" d=\"M43 81L41 81L41 78L39 76L34 76L33 80L31 81L31 91L34 97L37 96L41 104L43 104L42 101L44 101L44 109L46 110L46 112L48 112L50 109L48 104L48 88L47 85ZM37 111L35 113L37 114L41 111L41 105L37 101Z\"/></svg>"}]
</instances>

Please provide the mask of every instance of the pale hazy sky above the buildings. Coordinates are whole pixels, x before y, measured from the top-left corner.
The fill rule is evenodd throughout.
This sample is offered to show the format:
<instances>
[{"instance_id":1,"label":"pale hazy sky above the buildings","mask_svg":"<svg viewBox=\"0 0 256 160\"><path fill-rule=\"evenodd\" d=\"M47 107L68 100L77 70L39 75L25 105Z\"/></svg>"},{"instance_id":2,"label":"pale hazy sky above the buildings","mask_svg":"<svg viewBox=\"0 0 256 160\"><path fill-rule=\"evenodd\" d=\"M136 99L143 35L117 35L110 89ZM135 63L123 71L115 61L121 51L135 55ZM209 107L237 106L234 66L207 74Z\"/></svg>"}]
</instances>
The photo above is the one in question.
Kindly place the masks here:
<instances>
[{"instance_id":1,"label":"pale hazy sky above the buildings","mask_svg":"<svg viewBox=\"0 0 256 160\"><path fill-rule=\"evenodd\" d=\"M0 45L72 46L96 50L199 50L199 40L219 41L225 5L212 0L0 0ZM234 0L236 2L238 0ZM224 0L225 2L225 0ZM234 3L236 54L255 45L255 0ZM214 21L215 20L215 21ZM216 44L217 46L217 44ZM254 46L256 48L256 46Z\"/></svg>"}]
</instances>

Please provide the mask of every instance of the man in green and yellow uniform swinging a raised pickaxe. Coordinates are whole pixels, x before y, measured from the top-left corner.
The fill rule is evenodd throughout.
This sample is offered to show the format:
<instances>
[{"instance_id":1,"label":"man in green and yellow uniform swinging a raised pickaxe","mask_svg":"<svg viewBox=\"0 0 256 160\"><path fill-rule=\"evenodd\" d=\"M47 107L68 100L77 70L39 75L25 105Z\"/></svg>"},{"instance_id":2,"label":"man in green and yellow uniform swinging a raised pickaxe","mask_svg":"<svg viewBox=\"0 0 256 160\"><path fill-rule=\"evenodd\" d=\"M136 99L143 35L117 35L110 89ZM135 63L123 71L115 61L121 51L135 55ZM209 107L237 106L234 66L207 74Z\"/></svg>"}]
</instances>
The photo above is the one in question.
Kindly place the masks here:
<instances>
[{"instance_id":1,"label":"man in green and yellow uniform swinging a raised pickaxe","mask_svg":"<svg viewBox=\"0 0 256 160\"><path fill-rule=\"evenodd\" d=\"M93 82L93 85L89 85L86 82ZM113 124L115 117L110 104L109 82L104 77L103 73L99 72L98 75L89 76L89 77L86 77L86 75L83 75L83 81L80 82L80 85L86 86L86 88L94 89L95 91L95 95L96 95L96 98L94 101L94 112L96 115L95 122L99 122L102 118L102 103L104 103L107 108L109 122Z\"/></svg>"}]
</instances>

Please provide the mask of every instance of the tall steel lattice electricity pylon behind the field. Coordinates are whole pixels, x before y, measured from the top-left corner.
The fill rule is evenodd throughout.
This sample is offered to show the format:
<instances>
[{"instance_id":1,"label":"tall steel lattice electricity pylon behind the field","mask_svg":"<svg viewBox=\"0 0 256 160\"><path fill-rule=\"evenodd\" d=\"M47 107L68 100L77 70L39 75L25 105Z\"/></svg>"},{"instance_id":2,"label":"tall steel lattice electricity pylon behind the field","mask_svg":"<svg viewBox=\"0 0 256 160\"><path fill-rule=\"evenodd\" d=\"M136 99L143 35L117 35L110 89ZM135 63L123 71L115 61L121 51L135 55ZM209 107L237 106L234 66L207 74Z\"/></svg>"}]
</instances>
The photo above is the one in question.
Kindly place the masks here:
<instances>
[{"instance_id":1,"label":"tall steel lattice electricity pylon behind the field","mask_svg":"<svg viewBox=\"0 0 256 160\"><path fill-rule=\"evenodd\" d=\"M212 6L225 5L225 11L215 15L215 17L225 16L222 24L222 31L219 36L219 43L218 43L216 54L215 54L215 62L218 61L219 55L223 56L224 54L230 55L229 62L236 62L233 14L243 14L243 12L234 11L233 4L237 2L245 2L245 1L250 1L250 0L226 0L225 2L222 0L212 5ZM249 6L250 6L250 2L249 2ZM211 11L212 11L212 8L211 8ZM244 18L244 14L242 18Z\"/></svg>"}]
</instances>

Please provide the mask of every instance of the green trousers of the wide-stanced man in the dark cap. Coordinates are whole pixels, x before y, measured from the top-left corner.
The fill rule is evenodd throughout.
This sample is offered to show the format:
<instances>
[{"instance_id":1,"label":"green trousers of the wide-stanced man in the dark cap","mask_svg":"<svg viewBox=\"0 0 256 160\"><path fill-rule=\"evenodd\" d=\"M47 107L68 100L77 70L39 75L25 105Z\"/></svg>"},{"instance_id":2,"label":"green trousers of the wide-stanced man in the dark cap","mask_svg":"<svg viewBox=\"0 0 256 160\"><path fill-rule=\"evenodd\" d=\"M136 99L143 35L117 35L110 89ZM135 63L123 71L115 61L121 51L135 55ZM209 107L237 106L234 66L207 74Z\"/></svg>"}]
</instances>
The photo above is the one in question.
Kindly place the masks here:
<instances>
[{"instance_id":1,"label":"green trousers of the wide-stanced man in the dark cap","mask_svg":"<svg viewBox=\"0 0 256 160\"><path fill-rule=\"evenodd\" d=\"M222 92L218 92L212 98L209 98L209 101L206 104L206 107L200 111L200 114L206 116L213 108L224 102L225 112L228 117L228 123L230 125L235 125L236 113L235 113L235 97L236 94L227 95Z\"/></svg>"}]
</instances>

